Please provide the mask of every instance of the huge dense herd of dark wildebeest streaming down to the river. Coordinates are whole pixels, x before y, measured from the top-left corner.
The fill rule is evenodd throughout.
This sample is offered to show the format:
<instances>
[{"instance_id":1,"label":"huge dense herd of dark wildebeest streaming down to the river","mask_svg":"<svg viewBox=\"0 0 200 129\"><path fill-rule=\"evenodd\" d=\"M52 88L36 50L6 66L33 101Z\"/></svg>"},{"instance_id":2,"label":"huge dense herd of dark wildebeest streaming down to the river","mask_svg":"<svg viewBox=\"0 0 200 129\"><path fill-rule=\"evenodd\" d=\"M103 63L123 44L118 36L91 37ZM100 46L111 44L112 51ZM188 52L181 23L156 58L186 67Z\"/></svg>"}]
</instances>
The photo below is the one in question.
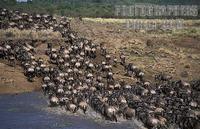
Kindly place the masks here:
<instances>
[{"instance_id":1,"label":"huge dense herd of dark wildebeest streaming down to the river","mask_svg":"<svg viewBox=\"0 0 200 129\"><path fill-rule=\"evenodd\" d=\"M155 75L146 81L144 72L121 53L113 57L105 46L80 38L70 22L58 22L51 15L27 14L1 9L0 28L52 29L66 39L59 48L47 43L48 62L36 58L34 45L12 40L0 44L0 58L12 66L19 64L29 81L43 78L42 89L51 106L62 106L75 113L87 113L90 106L105 119L117 121L138 119L147 128L200 128L200 80L190 83L172 77ZM114 78L113 67L123 66L126 75L137 82L127 84Z\"/></svg>"}]
</instances>

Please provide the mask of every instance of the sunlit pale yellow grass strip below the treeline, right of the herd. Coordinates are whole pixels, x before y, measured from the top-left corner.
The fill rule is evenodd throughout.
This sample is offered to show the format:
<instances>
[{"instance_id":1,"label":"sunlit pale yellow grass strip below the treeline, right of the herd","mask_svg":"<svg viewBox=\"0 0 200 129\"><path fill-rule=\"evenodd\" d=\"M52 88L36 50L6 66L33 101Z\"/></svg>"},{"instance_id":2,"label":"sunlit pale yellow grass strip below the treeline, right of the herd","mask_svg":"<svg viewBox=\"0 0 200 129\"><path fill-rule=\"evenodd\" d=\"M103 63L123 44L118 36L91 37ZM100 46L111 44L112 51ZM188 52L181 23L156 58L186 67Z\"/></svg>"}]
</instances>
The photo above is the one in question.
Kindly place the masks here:
<instances>
[{"instance_id":1,"label":"sunlit pale yellow grass strip below the treeline, right of the herd","mask_svg":"<svg viewBox=\"0 0 200 129\"><path fill-rule=\"evenodd\" d=\"M176 25L177 20L167 20L167 19L114 19L114 18L83 18L84 21L86 22L93 22L93 23L101 23L101 24L108 24L108 25L120 25L121 29L127 29L130 30L131 33L137 32L138 34L147 34L149 36L155 37L158 36L160 37L183 37L183 36L188 36L188 37L194 37L198 38L200 37L200 20L183 20L179 19L182 21L182 28L175 28L172 27L169 30L164 30L161 29L160 27L165 25L165 23L170 23L172 22L173 24ZM141 23L142 25L149 25L151 23L156 23L158 26L156 30L145 30L145 29L140 29L139 31L134 31L132 28L127 28L127 22L130 22L130 25L133 25L132 23Z\"/></svg>"}]
</instances>

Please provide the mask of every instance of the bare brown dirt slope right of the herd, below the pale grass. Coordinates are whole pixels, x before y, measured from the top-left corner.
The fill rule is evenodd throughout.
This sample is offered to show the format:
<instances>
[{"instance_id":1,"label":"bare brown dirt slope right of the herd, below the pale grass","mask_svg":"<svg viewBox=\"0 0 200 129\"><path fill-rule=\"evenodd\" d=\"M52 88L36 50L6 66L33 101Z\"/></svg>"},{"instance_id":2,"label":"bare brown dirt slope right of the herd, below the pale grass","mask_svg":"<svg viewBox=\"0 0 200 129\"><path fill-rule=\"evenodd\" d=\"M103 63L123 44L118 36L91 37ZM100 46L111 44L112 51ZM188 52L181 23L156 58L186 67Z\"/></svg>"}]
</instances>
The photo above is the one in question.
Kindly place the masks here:
<instances>
[{"instance_id":1,"label":"bare brown dirt slope right of the herd, below the pale grass","mask_svg":"<svg viewBox=\"0 0 200 129\"><path fill-rule=\"evenodd\" d=\"M181 34L180 30L146 32L127 29L120 23L89 20L74 20L72 28L104 44L114 56L125 52L128 61L143 69L149 80L159 72L185 81L200 78L200 39L191 36L189 29Z\"/></svg>"}]
</instances>

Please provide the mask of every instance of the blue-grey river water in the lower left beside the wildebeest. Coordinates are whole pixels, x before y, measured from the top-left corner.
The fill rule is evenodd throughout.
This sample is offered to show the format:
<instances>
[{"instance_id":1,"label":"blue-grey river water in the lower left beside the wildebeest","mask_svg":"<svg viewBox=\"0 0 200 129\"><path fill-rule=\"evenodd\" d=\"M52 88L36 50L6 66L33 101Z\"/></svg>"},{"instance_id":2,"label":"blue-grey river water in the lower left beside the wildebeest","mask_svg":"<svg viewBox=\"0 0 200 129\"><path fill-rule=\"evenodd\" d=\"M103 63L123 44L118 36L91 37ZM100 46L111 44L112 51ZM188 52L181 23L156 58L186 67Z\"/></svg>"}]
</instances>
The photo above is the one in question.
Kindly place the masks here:
<instances>
[{"instance_id":1,"label":"blue-grey river water in the lower left beside the wildebeest","mask_svg":"<svg viewBox=\"0 0 200 129\"><path fill-rule=\"evenodd\" d=\"M138 129L137 121L109 122L48 107L41 92L0 95L0 129ZM90 116L90 117L89 117ZM92 117L91 117L92 116Z\"/></svg>"}]
</instances>

